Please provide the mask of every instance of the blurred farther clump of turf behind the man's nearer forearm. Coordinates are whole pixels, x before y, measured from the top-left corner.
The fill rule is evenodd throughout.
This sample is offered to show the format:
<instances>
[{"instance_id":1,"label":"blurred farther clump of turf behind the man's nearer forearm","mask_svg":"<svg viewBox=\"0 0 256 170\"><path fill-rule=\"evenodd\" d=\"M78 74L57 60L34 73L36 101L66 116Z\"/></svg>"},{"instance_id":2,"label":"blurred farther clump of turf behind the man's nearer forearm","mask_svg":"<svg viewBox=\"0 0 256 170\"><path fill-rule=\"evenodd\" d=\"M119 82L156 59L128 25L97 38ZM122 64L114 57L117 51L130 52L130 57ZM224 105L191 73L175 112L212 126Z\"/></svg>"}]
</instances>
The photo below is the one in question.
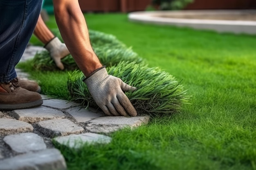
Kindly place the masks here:
<instances>
[{"instance_id":1,"label":"blurred farther clump of turf behind the man's nearer forearm","mask_svg":"<svg viewBox=\"0 0 256 170\"><path fill-rule=\"evenodd\" d=\"M63 41L58 30L55 29L53 33L61 41ZM89 33L94 52L99 57L99 60L103 65L115 65L121 61L136 63L142 62L142 59L138 56L137 53L132 51L131 48L126 48L126 46L117 40L115 36L92 30L90 30ZM63 62L66 70L78 69L78 66L74 62L74 59L71 55L67 55L67 57L63 58L61 61ZM33 63L34 68L37 70L58 70L58 67L55 65L48 51L41 51L36 53L33 59Z\"/></svg>"}]
</instances>

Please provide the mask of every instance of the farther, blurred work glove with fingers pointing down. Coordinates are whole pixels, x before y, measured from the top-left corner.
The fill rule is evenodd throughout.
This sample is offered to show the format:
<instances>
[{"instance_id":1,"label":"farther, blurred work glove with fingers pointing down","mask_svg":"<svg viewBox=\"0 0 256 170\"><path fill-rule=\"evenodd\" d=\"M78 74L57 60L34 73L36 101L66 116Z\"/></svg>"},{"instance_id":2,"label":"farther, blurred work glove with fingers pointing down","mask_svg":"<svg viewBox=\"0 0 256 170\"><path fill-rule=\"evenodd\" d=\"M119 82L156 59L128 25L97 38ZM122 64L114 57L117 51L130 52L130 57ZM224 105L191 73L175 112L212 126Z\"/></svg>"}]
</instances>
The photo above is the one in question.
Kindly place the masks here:
<instances>
[{"instance_id":1,"label":"farther, blurred work glove with fingers pointing down","mask_svg":"<svg viewBox=\"0 0 256 170\"><path fill-rule=\"evenodd\" d=\"M58 37L54 37L51 41L49 41L45 45L45 49L47 49L54 60L56 66L61 70L64 69L64 66L61 62L61 59L70 54L67 49L67 46L62 43Z\"/></svg>"}]
</instances>

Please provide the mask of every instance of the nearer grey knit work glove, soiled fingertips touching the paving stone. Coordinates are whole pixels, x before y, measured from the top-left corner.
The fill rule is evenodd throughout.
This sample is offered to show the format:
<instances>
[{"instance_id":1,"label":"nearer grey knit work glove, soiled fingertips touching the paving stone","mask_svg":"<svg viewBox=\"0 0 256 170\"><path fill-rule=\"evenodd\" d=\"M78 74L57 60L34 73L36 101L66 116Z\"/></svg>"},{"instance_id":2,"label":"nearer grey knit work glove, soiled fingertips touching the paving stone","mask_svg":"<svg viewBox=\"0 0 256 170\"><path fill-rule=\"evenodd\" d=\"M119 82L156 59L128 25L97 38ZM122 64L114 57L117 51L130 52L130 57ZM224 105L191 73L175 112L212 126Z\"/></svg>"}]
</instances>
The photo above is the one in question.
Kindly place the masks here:
<instances>
[{"instance_id":1,"label":"nearer grey knit work glove, soiled fingertips touching the paving stone","mask_svg":"<svg viewBox=\"0 0 256 170\"><path fill-rule=\"evenodd\" d=\"M136 88L124 83L120 78L108 75L105 67L94 71L83 80L96 104L109 116L136 116L126 91L135 91Z\"/></svg>"}]
</instances>

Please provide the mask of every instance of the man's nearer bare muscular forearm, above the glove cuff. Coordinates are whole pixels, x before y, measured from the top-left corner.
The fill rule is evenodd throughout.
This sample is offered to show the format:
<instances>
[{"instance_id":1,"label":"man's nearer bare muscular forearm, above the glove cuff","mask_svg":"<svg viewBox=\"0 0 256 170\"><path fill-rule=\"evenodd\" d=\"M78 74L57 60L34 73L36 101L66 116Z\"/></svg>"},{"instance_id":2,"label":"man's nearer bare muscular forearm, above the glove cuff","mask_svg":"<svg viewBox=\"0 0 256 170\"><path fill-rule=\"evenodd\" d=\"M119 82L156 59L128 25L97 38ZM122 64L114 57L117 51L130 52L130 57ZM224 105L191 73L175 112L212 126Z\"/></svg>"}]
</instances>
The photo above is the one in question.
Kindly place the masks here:
<instances>
[{"instance_id":1,"label":"man's nearer bare muscular forearm, above the glove cuff","mask_svg":"<svg viewBox=\"0 0 256 170\"><path fill-rule=\"evenodd\" d=\"M53 0L54 14L61 36L85 76L100 68L90 44L89 33L77 0Z\"/></svg>"}]
</instances>

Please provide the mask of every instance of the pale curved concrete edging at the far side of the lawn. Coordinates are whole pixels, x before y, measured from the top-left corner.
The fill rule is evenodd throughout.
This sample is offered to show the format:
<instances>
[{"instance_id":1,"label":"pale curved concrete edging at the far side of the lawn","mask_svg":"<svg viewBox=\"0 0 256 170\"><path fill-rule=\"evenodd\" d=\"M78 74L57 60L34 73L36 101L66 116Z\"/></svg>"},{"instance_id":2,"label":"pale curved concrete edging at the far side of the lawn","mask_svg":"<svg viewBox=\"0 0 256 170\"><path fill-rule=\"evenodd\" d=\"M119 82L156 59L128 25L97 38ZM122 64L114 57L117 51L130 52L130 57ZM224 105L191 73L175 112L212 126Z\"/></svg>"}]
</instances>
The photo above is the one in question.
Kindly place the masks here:
<instances>
[{"instance_id":1,"label":"pale curved concrete edging at the far side of the lawn","mask_svg":"<svg viewBox=\"0 0 256 170\"><path fill-rule=\"evenodd\" d=\"M244 13L251 10L186 10L186 11L139 11L128 14L128 18L133 22L143 22L161 25L174 25L180 27L190 27L193 29L213 30L217 32L256 34L256 21L242 20L201 20L183 18L164 18L161 15L205 15L205 14L234 14Z\"/></svg>"}]
</instances>

